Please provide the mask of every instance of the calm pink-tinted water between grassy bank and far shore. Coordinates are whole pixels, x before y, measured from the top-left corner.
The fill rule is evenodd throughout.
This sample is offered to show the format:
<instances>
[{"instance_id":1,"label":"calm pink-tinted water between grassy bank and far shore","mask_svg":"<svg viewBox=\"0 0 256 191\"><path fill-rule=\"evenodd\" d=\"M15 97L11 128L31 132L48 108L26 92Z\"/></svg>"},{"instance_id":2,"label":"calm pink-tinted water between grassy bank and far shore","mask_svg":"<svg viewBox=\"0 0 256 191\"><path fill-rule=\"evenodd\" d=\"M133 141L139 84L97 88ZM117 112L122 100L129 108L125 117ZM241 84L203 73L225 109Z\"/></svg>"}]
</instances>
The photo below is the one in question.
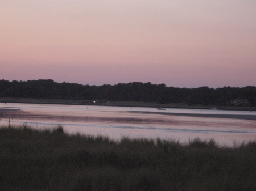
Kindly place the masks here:
<instances>
[{"instance_id":1,"label":"calm pink-tinted water between grassy bank and far shore","mask_svg":"<svg viewBox=\"0 0 256 191\"><path fill-rule=\"evenodd\" d=\"M0 103L0 111L2 125L9 119L11 124L35 128L63 125L69 133L114 139L159 137L188 142L199 137L227 146L256 140L256 112L11 103Z\"/></svg>"}]
</instances>

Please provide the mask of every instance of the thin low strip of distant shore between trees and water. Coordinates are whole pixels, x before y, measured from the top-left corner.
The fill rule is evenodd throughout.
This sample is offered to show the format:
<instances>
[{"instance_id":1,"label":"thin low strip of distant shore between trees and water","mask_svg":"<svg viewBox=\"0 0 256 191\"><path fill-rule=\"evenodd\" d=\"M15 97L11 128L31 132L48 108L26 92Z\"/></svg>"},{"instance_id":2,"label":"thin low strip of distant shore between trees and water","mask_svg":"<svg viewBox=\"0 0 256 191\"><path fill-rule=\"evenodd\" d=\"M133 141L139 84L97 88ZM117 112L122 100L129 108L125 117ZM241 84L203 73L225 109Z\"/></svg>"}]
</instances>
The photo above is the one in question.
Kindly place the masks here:
<instances>
[{"instance_id":1,"label":"thin low strip of distant shore between trees and water","mask_svg":"<svg viewBox=\"0 0 256 191\"><path fill-rule=\"evenodd\" d=\"M256 111L256 107L232 107L216 105L187 105L185 103L148 103L137 101L102 101L102 100L62 100L62 99L28 99L0 97L0 103L27 103L27 104L61 104L61 105L102 105L120 107L151 107L151 108L181 108L181 109L212 109Z\"/></svg>"}]
</instances>

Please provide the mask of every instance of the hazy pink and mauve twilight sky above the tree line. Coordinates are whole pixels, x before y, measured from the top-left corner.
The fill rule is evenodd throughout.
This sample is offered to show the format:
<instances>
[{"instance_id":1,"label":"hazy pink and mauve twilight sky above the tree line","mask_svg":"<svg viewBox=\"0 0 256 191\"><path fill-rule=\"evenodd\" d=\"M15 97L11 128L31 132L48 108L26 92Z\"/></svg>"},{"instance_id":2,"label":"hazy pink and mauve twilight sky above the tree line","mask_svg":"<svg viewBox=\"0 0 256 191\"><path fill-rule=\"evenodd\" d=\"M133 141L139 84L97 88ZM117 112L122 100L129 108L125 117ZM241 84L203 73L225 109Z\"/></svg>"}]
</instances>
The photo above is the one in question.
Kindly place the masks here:
<instances>
[{"instance_id":1,"label":"hazy pink and mauve twilight sky above the tree line","mask_svg":"<svg viewBox=\"0 0 256 191\"><path fill-rule=\"evenodd\" d=\"M0 79L256 86L255 0L1 0Z\"/></svg>"}]
</instances>

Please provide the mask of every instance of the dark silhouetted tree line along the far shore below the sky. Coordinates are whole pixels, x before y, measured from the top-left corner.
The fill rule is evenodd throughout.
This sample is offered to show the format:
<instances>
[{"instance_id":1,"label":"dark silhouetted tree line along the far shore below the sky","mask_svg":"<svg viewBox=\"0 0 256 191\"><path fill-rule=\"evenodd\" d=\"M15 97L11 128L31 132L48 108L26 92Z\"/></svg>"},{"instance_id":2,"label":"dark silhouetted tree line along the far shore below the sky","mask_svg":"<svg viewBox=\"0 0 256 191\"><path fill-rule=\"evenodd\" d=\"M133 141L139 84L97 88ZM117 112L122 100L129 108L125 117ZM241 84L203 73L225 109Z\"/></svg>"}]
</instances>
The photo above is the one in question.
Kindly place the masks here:
<instances>
[{"instance_id":1,"label":"dark silhouetted tree line along the far shore below the sky","mask_svg":"<svg viewBox=\"0 0 256 191\"><path fill-rule=\"evenodd\" d=\"M57 83L51 79L28 81L0 80L0 97L77 99L105 101L144 101L186 103L188 105L226 105L230 99L247 99L256 103L256 87L177 88L166 84L142 82L89 86L77 83Z\"/></svg>"}]
</instances>

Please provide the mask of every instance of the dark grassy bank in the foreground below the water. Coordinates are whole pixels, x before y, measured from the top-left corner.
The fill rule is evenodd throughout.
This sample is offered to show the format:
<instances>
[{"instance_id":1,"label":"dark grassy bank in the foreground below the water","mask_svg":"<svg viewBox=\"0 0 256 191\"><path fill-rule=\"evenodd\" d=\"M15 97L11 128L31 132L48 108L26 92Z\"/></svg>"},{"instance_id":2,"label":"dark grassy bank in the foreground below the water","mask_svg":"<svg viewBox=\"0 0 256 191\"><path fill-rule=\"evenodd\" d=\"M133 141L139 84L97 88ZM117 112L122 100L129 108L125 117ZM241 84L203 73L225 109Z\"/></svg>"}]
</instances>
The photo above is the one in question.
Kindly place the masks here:
<instances>
[{"instance_id":1,"label":"dark grassy bank in the foreground below the water","mask_svg":"<svg viewBox=\"0 0 256 191\"><path fill-rule=\"evenodd\" d=\"M116 142L9 125L0 150L0 190L256 190L256 142Z\"/></svg>"}]
</instances>

